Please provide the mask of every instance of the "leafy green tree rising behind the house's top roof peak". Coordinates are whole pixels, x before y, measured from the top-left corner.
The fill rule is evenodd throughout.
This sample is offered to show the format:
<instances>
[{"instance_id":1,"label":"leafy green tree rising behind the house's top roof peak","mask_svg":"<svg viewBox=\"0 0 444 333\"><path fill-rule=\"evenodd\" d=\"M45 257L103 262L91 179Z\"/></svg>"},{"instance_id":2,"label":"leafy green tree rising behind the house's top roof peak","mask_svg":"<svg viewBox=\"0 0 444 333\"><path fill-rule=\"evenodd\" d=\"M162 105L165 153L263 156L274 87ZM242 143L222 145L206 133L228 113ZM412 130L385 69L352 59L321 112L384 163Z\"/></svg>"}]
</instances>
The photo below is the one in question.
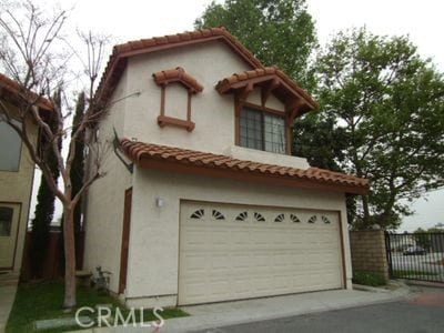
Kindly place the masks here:
<instances>
[{"instance_id":1,"label":"leafy green tree rising behind the house's top roof peak","mask_svg":"<svg viewBox=\"0 0 444 333\"><path fill-rule=\"evenodd\" d=\"M305 0L225 0L212 2L196 28L225 27L264 64L278 65L306 89L314 85L309 58L316 47Z\"/></svg>"}]
</instances>

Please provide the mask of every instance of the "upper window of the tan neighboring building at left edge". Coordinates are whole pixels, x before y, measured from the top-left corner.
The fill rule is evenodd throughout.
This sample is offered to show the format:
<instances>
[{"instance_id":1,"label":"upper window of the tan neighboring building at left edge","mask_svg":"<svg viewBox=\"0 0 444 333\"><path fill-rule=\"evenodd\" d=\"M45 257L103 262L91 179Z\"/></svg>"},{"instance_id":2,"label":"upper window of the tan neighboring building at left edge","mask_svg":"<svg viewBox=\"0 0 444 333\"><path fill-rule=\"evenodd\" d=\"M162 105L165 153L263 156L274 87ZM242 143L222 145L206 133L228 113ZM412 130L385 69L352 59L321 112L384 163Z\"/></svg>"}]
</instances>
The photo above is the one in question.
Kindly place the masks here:
<instances>
[{"instance_id":1,"label":"upper window of the tan neighboring building at left edge","mask_svg":"<svg viewBox=\"0 0 444 333\"><path fill-rule=\"evenodd\" d=\"M0 121L0 171L19 171L21 139L4 121Z\"/></svg>"}]
</instances>

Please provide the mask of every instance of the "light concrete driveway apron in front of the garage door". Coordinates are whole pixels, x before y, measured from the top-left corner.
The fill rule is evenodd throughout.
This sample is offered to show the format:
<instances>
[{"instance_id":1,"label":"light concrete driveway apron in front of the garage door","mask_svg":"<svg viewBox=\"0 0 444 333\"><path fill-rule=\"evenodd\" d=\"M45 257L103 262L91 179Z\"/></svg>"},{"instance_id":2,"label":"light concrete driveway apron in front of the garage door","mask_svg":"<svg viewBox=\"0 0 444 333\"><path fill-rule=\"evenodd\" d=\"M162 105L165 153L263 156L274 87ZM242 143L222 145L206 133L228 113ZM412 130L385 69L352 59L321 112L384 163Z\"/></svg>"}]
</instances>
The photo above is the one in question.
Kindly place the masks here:
<instances>
[{"instance_id":1,"label":"light concrete driveway apron in front of the garage door","mask_svg":"<svg viewBox=\"0 0 444 333\"><path fill-rule=\"evenodd\" d=\"M331 290L275 297L183 306L191 316L167 320L160 330L142 327L101 327L89 332L193 332L233 326L243 323L273 321L306 313L355 307L381 302L401 300L411 294L405 284L395 284L392 290ZM85 333L88 331L82 331ZM210 331L211 332L211 331Z\"/></svg>"}]
</instances>

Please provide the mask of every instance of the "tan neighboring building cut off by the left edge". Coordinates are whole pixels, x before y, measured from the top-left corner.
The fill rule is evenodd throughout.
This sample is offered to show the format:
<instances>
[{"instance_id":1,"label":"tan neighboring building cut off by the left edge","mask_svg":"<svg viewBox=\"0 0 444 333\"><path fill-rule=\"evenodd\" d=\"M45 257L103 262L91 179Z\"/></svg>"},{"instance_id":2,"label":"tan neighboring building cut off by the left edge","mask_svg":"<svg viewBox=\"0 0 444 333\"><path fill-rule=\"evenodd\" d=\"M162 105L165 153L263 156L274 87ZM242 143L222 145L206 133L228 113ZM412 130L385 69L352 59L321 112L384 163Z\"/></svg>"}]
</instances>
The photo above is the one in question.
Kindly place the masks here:
<instances>
[{"instance_id":1,"label":"tan neighboring building cut off by the left edge","mask_svg":"<svg viewBox=\"0 0 444 333\"><path fill-rule=\"evenodd\" d=\"M0 102L10 114L18 112L20 85L0 74ZM48 101L39 104L41 111L50 110ZM18 133L2 121L0 108L0 271L20 273L23 243L28 226L29 206L34 175L34 163ZM37 143L38 127L27 123L32 141Z\"/></svg>"}]
</instances>

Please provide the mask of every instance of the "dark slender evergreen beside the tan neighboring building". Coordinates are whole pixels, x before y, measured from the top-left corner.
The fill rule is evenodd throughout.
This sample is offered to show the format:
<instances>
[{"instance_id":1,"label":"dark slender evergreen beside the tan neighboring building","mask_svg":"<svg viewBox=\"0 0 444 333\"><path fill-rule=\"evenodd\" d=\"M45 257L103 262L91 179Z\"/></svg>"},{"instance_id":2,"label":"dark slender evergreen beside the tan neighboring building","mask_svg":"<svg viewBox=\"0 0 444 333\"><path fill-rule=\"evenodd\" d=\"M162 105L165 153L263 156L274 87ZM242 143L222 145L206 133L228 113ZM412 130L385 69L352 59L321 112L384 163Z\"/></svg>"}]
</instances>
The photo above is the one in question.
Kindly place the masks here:
<instances>
[{"instance_id":1,"label":"dark slender evergreen beside the tan neighboring building","mask_svg":"<svg viewBox=\"0 0 444 333\"><path fill-rule=\"evenodd\" d=\"M54 94L53 100L56 103L60 104L60 92ZM57 128L56 121L54 118L49 118L47 120L48 125L52 130ZM58 141L60 151L62 142L60 138ZM47 161L48 169L57 182L60 172L57 157L52 150L52 142L42 137L39 145L39 153L41 158ZM42 174L39 191L37 193L34 219L31 221L31 246L29 251L31 258L32 279L42 278L43 262L48 253L50 226L54 215L54 201L56 194L51 191L44 180L44 175Z\"/></svg>"}]
</instances>

